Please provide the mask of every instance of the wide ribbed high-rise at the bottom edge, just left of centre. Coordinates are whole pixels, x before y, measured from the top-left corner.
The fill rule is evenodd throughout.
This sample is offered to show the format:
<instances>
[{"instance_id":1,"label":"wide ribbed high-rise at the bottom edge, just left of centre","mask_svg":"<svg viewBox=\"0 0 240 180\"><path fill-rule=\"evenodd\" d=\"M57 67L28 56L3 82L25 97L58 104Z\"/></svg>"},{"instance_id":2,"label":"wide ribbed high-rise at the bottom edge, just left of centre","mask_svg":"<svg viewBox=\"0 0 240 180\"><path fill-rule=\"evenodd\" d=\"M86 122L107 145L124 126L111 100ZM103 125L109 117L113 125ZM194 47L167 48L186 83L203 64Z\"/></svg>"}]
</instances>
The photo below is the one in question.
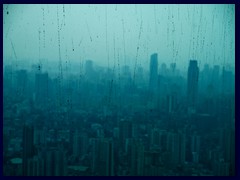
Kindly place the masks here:
<instances>
[{"instance_id":1,"label":"wide ribbed high-rise at the bottom edge, just left of centre","mask_svg":"<svg viewBox=\"0 0 240 180\"><path fill-rule=\"evenodd\" d=\"M97 176L114 175L113 141L107 138L91 139L92 173Z\"/></svg>"}]
</instances>

